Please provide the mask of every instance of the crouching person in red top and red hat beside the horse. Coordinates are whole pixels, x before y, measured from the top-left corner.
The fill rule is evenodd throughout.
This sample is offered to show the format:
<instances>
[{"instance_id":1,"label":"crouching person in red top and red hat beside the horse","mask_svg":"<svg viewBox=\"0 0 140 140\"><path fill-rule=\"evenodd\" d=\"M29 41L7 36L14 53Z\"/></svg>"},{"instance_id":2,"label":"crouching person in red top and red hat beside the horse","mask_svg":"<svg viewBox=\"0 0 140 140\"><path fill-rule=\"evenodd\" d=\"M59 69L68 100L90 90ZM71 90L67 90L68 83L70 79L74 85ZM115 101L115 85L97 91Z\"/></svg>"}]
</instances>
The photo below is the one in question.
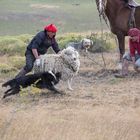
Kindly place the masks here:
<instances>
[{"instance_id":1,"label":"crouching person in red top and red hat beside the horse","mask_svg":"<svg viewBox=\"0 0 140 140\"><path fill-rule=\"evenodd\" d=\"M128 75L129 64L133 64L135 71L138 71L140 67L140 30L137 28L131 28L128 31L129 36L129 52L123 56L122 71L120 75L115 77L125 77Z\"/></svg>"}]
</instances>

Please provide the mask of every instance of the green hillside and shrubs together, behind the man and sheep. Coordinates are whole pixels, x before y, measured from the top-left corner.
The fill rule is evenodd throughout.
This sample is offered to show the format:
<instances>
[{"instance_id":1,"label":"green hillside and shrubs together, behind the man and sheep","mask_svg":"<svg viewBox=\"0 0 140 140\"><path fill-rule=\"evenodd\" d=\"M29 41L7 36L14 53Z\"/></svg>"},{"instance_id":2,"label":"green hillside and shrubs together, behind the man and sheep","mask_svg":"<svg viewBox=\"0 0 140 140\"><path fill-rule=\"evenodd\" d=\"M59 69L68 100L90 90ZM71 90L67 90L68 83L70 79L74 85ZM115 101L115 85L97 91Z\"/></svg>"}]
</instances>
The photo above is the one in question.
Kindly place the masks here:
<instances>
[{"instance_id":1,"label":"green hillside and shrubs together, behind the man and sheep","mask_svg":"<svg viewBox=\"0 0 140 140\"><path fill-rule=\"evenodd\" d=\"M20 69L26 46L50 23L59 29L57 40L61 49L68 42L79 42L82 38L93 40L91 52L116 47L113 34L106 31L109 29L105 24L101 27L94 0L0 0L0 55L5 58L0 71Z\"/></svg>"}]
</instances>

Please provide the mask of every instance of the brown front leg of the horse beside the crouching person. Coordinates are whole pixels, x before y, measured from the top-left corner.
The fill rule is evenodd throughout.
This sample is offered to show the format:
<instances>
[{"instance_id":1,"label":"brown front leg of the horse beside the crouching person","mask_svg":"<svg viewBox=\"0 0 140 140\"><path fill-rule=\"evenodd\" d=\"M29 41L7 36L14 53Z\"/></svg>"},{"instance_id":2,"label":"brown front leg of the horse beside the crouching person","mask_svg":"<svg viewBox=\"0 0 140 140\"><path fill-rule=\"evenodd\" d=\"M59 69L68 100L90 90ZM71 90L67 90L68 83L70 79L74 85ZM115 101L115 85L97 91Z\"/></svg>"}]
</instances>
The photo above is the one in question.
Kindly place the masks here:
<instances>
[{"instance_id":1,"label":"brown front leg of the horse beside the crouching person","mask_svg":"<svg viewBox=\"0 0 140 140\"><path fill-rule=\"evenodd\" d=\"M119 33L117 34L117 39L119 43L120 62L122 62L122 57L125 53L125 36L122 33Z\"/></svg>"}]
</instances>

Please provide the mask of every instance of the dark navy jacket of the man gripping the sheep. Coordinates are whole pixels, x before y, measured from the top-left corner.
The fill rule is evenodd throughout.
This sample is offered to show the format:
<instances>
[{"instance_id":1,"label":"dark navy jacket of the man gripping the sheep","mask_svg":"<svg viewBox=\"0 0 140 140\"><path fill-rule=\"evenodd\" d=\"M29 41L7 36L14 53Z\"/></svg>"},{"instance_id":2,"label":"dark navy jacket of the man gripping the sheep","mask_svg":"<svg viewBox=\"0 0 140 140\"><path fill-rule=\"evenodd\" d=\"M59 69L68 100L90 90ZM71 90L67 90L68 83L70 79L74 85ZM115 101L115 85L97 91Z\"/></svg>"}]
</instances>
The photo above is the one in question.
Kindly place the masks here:
<instances>
[{"instance_id":1,"label":"dark navy jacket of the man gripping the sheep","mask_svg":"<svg viewBox=\"0 0 140 140\"><path fill-rule=\"evenodd\" d=\"M45 31L41 31L29 43L25 55L32 54L32 49L37 49L39 55L45 54L49 47L52 47L56 53L60 51L55 37L51 39Z\"/></svg>"}]
</instances>

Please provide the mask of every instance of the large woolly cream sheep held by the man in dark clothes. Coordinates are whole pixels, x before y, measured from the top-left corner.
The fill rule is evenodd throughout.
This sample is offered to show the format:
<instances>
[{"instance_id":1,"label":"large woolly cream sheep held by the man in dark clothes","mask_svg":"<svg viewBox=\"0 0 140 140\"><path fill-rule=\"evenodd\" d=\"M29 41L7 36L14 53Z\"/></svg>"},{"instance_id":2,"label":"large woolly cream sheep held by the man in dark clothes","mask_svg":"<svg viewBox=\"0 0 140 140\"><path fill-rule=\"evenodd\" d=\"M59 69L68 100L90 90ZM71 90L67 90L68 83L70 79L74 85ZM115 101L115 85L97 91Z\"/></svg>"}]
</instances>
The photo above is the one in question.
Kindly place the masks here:
<instances>
[{"instance_id":1,"label":"large woolly cream sheep held by the man in dark clothes","mask_svg":"<svg viewBox=\"0 0 140 140\"><path fill-rule=\"evenodd\" d=\"M59 54L45 54L40 56L41 65L34 63L34 73L52 71L60 72L61 80L67 81L68 89L71 87L73 77L77 75L80 68L79 53L71 46L63 49Z\"/></svg>"}]
</instances>

